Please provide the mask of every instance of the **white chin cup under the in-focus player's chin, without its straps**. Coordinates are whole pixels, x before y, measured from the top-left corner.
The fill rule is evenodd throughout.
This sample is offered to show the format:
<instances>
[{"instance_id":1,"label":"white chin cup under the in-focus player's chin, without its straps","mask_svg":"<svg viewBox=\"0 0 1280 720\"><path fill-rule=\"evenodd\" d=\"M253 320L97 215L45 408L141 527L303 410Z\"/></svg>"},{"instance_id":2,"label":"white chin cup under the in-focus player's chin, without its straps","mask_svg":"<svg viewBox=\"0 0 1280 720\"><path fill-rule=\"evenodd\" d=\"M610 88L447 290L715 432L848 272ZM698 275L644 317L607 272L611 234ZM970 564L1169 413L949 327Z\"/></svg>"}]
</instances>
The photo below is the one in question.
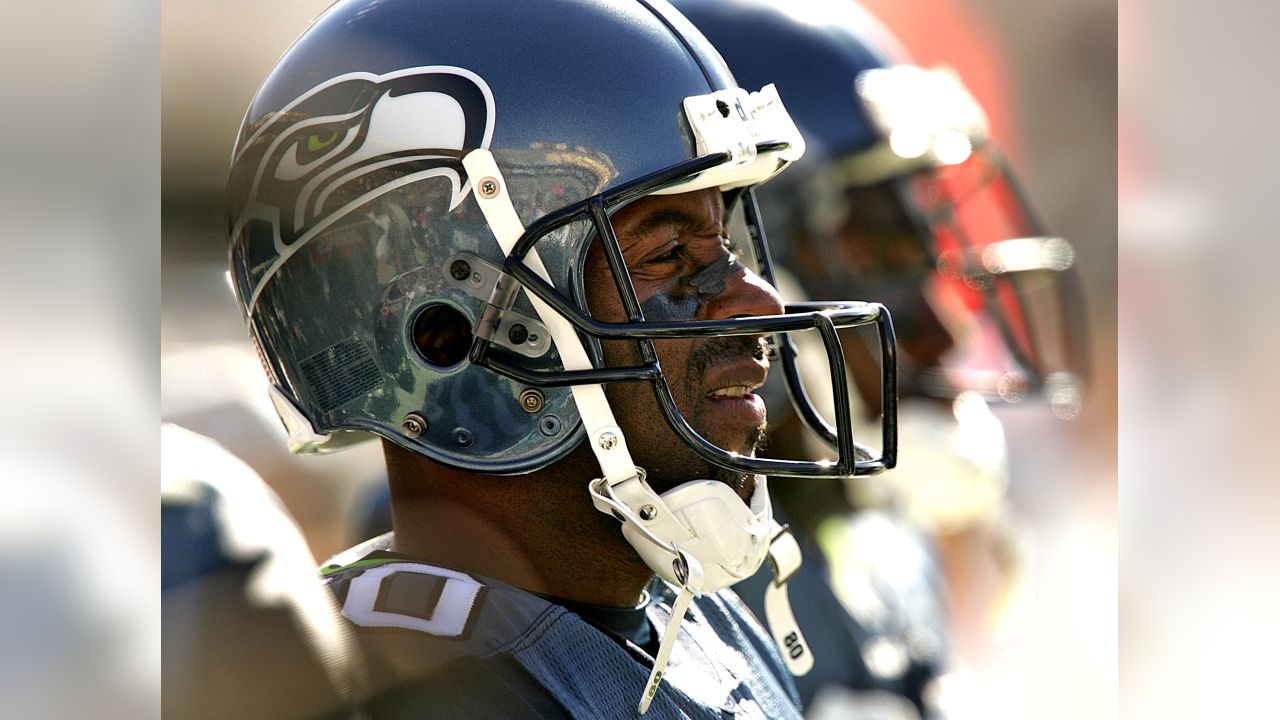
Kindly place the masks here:
<instances>
[{"instance_id":1,"label":"white chin cup under the in-focus player's chin, without its straps","mask_svg":"<svg viewBox=\"0 0 1280 720\"><path fill-rule=\"evenodd\" d=\"M663 505L658 515L668 514L676 523L646 523L641 515L628 514L622 534L662 579L704 594L750 578L764 562L773 520L764 475L756 475L750 506L716 480L689 482L658 498ZM667 547L653 542L650 534ZM664 537L671 534L680 537Z\"/></svg>"}]
</instances>

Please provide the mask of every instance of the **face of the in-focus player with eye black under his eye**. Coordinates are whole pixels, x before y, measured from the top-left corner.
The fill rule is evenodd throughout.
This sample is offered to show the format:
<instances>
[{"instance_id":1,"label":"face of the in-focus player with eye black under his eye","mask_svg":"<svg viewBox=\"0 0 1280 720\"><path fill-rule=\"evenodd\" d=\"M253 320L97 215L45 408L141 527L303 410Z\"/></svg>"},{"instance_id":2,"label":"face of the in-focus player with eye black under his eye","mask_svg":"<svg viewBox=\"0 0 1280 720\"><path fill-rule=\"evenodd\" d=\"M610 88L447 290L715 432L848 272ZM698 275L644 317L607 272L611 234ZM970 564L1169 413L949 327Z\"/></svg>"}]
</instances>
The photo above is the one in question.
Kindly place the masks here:
<instances>
[{"instance_id":1,"label":"face of the in-focus player with eye black under his eye","mask_svg":"<svg viewBox=\"0 0 1280 720\"><path fill-rule=\"evenodd\" d=\"M613 215L618 243L646 320L728 319L777 315L782 302L772 286L737 261L716 188L650 196ZM588 255L588 302L602 319L626 319L599 243ZM753 391L768 373L763 337L655 341L658 361L676 405L695 430L741 455L754 455L764 434L764 401ZM609 365L640 360L634 342L604 341ZM750 479L716 471L680 441L662 418L646 383L609 386L609 401L636 461L655 489L695 478L731 482L744 498Z\"/></svg>"}]
</instances>

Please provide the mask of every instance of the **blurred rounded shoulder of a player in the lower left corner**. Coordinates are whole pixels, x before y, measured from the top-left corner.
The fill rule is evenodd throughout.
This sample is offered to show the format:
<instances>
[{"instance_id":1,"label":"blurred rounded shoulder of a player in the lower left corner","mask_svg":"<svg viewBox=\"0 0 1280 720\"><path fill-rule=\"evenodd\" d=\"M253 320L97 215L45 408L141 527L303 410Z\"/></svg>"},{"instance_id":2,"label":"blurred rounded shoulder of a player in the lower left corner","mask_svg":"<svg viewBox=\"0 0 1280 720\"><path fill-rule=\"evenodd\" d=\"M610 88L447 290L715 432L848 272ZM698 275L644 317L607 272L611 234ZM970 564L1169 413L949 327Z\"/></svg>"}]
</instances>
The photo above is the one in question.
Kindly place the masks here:
<instances>
[{"instance_id":1,"label":"blurred rounded shoulder of a player in the lower left corner","mask_svg":"<svg viewBox=\"0 0 1280 720\"><path fill-rule=\"evenodd\" d=\"M280 500L186 428L160 452L164 715L353 717L364 660Z\"/></svg>"}]
</instances>

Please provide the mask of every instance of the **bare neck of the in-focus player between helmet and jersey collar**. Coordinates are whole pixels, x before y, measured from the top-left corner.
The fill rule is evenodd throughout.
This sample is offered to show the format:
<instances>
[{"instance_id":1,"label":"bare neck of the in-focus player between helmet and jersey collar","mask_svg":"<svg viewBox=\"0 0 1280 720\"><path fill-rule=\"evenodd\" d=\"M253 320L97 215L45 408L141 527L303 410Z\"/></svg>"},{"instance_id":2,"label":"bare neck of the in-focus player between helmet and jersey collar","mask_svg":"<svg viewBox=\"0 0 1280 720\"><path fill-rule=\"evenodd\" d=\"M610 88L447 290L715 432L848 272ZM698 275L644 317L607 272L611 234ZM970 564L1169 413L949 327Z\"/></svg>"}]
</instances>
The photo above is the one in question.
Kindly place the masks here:
<instances>
[{"instance_id":1,"label":"bare neck of the in-focus player between helmet and jersey collar","mask_svg":"<svg viewBox=\"0 0 1280 720\"><path fill-rule=\"evenodd\" d=\"M590 464L573 456L488 477L388 447L387 469L397 552L609 607L634 607L652 577L617 520L591 505Z\"/></svg>"}]
</instances>

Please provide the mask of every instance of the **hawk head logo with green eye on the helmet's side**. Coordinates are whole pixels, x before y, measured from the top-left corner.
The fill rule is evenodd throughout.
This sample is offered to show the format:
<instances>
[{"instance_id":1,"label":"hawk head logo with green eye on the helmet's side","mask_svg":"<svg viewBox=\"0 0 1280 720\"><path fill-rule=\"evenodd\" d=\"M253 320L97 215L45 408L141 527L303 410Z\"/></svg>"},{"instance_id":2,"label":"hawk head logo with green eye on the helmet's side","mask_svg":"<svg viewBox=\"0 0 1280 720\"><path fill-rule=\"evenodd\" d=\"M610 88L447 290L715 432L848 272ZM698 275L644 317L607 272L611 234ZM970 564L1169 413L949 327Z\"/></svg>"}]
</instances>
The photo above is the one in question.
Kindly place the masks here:
<instances>
[{"instance_id":1,"label":"hawk head logo with green eye on the helmet's side","mask_svg":"<svg viewBox=\"0 0 1280 720\"><path fill-rule=\"evenodd\" d=\"M462 156L489 147L493 119L479 76L436 65L335 77L242 131L229 187L246 310L303 243L392 190L444 178L457 208Z\"/></svg>"}]
</instances>

